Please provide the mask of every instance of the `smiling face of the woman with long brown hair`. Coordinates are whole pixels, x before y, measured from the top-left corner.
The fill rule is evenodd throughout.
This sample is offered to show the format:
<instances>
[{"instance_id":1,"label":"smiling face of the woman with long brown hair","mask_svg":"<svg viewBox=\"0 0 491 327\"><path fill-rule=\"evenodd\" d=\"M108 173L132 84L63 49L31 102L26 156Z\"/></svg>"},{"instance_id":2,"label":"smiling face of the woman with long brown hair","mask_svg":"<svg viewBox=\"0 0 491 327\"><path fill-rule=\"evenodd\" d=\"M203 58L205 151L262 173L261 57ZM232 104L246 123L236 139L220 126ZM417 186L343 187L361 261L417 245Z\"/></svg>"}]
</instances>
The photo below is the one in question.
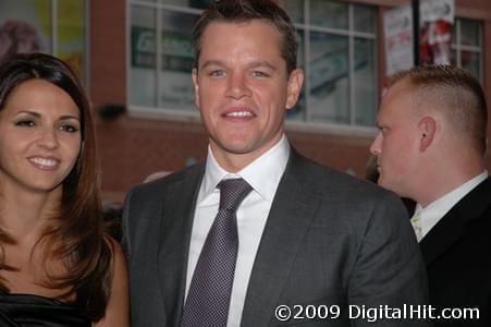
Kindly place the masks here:
<instances>
[{"instance_id":1,"label":"smiling face of the woman with long brown hair","mask_svg":"<svg viewBox=\"0 0 491 327\"><path fill-rule=\"evenodd\" d=\"M1 186L61 189L81 142L79 110L67 93L44 80L20 84L0 110Z\"/></svg>"}]
</instances>

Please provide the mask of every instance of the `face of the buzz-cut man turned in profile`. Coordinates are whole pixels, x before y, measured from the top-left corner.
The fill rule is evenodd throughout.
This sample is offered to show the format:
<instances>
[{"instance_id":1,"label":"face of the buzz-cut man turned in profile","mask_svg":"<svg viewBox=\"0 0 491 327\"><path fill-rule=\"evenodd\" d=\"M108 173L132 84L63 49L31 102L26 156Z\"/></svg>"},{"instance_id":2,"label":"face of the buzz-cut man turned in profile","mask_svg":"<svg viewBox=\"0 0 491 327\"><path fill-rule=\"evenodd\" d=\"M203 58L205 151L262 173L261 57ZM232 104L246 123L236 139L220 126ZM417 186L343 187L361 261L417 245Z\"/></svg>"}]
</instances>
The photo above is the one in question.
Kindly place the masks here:
<instances>
[{"instance_id":1,"label":"face of the buzz-cut man turned in profile","mask_svg":"<svg viewBox=\"0 0 491 327\"><path fill-rule=\"evenodd\" d=\"M414 96L412 86L404 81L389 89L377 116L379 134L370 146L377 156L378 183L401 196L409 195L418 171L419 134Z\"/></svg>"}]
</instances>

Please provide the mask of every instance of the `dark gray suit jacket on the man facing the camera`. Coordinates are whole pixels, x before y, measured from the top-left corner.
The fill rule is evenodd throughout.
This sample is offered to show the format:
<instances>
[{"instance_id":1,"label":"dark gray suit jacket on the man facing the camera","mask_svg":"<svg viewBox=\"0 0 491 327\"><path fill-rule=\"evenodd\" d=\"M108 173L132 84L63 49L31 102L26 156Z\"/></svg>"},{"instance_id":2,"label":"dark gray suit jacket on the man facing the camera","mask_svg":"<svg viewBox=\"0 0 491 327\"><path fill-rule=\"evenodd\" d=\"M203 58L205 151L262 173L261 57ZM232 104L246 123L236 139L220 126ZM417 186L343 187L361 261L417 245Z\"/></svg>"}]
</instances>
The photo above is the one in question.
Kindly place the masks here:
<instances>
[{"instance_id":1,"label":"dark gray suit jacket on the man facing the camera","mask_svg":"<svg viewBox=\"0 0 491 327\"><path fill-rule=\"evenodd\" d=\"M123 228L133 327L180 324L204 170L204 165L193 166L137 185L127 195ZM403 303L427 303L427 283L401 201L292 149L254 263L242 326L352 326L349 304L368 308ZM342 317L282 323L274 317L280 304L339 305ZM355 325L415 326L415 322L360 319Z\"/></svg>"}]
</instances>

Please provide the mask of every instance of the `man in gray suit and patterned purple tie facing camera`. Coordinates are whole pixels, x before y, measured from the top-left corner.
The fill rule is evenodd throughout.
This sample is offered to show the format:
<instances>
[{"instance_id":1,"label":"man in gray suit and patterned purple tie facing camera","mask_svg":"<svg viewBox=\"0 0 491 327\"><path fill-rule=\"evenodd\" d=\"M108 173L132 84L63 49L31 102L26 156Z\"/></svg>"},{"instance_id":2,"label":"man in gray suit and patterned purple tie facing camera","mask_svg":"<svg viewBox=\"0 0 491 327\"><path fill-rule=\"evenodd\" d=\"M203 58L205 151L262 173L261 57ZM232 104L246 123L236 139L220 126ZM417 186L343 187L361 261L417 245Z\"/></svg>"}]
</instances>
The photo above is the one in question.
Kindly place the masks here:
<instances>
[{"instance_id":1,"label":"man in gray suit and patterned purple tie facing camera","mask_svg":"<svg viewBox=\"0 0 491 327\"><path fill-rule=\"evenodd\" d=\"M127 195L133 326L426 325L401 314L427 301L402 203L300 156L284 135L304 80L284 11L269 0L219 1L194 39L208 157ZM250 193L223 211L230 179ZM213 239L223 216L234 223L223 238L238 243L232 256L235 245ZM210 265L216 253L223 261Z\"/></svg>"}]
</instances>

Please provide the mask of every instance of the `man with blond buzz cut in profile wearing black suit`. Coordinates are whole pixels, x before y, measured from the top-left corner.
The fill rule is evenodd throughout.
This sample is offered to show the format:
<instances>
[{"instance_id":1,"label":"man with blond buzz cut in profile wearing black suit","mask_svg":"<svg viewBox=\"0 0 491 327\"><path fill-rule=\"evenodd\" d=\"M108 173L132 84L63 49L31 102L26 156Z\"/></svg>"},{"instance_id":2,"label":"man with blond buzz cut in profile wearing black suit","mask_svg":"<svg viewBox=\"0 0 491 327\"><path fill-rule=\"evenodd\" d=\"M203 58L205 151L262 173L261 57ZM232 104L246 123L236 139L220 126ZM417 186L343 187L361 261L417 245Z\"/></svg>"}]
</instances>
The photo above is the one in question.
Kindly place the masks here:
<instances>
[{"instance_id":1,"label":"man with blond buzz cut in profile wearing black suit","mask_svg":"<svg viewBox=\"0 0 491 327\"><path fill-rule=\"evenodd\" d=\"M430 304L475 308L491 326L491 179L484 169L488 111L479 82L453 66L395 75L377 118L378 183L417 202L412 218L427 265ZM477 310L479 318L477 319Z\"/></svg>"}]
</instances>

